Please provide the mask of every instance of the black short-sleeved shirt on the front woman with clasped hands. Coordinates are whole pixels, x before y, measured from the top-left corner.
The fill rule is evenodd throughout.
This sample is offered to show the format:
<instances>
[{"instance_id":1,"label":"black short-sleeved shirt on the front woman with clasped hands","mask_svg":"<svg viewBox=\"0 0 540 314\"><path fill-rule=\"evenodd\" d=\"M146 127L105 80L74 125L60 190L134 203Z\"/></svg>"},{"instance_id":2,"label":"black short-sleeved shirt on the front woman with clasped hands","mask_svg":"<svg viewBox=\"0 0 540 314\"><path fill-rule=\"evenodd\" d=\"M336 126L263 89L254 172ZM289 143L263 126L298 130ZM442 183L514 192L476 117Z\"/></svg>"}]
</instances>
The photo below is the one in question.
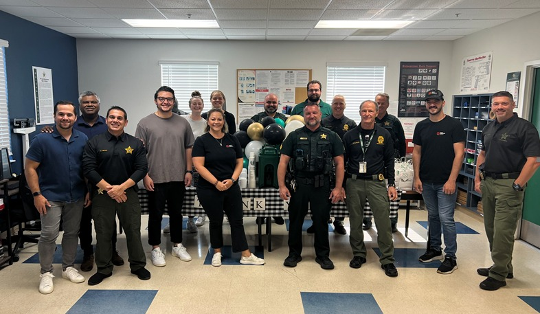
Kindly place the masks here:
<instances>
[{"instance_id":1,"label":"black short-sleeved shirt on the front woman with clasped hands","mask_svg":"<svg viewBox=\"0 0 540 314\"><path fill-rule=\"evenodd\" d=\"M205 168L219 181L232 178L236 159L244 155L240 142L235 136L225 134L222 139L216 139L210 133L204 133L195 139L191 153L192 157L204 157ZM200 177L197 186L213 188L214 182L208 182Z\"/></svg>"}]
</instances>

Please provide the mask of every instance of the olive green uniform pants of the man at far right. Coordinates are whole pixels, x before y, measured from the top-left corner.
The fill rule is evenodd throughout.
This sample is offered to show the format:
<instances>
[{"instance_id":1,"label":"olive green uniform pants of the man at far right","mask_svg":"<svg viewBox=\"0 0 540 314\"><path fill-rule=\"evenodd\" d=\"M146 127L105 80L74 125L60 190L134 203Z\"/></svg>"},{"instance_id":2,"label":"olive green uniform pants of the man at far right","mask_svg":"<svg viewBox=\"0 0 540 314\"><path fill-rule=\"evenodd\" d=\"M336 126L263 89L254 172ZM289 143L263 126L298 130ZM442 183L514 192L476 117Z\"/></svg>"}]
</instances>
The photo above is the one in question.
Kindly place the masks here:
<instances>
[{"instance_id":1,"label":"olive green uniform pants of the man at far right","mask_svg":"<svg viewBox=\"0 0 540 314\"><path fill-rule=\"evenodd\" d=\"M512 251L517 220L523 208L523 191L512 188L514 179L482 180L482 207L484 227L489 241L493 267L489 276L505 281L508 273L513 273Z\"/></svg>"}]
</instances>

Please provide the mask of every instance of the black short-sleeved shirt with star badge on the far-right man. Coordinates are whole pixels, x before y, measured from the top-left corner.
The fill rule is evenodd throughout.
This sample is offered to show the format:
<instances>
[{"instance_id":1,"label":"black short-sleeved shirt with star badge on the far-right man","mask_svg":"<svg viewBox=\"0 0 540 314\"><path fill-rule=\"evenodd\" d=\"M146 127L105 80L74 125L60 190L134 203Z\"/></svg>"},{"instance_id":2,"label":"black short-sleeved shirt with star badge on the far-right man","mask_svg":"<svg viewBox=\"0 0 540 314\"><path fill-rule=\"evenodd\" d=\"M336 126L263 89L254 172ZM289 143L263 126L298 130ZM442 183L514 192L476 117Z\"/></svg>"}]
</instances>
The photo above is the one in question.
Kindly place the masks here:
<instances>
[{"instance_id":1,"label":"black short-sleeved shirt with star badge on the far-right man","mask_svg":"<svg viewBox=\"0 0 540 314\"><path fill-rule=\"evenodd\" d=\"M514 113L499 123L489 122L482 130L484 170L492 173L521 172L527 157L540 157L540 139L535 126Z\"/></svg>"}]
</instances>

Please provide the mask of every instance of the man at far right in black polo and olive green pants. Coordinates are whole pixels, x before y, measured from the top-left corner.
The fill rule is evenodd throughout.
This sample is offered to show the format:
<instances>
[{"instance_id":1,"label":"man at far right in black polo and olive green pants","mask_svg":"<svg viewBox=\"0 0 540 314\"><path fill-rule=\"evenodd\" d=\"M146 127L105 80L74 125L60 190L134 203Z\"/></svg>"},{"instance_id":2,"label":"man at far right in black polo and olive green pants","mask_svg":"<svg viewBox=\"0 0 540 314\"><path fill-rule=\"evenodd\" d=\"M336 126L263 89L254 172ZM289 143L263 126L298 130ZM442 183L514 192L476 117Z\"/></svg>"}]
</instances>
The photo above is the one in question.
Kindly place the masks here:
<instances>
[{"instance_id":1,"label":"man at far right in black polo and olive green pants","mask_svg":"<svg viewBox=\"0 0 540 314\"><path fill-rule=\"evenodd\" d=\"M493 266L477 272L488 277L480 288L490 291L506 286L506 278L514 277L512 251L524 188L539 166L538 131L517 117L514 108L508 91L491 96L491 111L496 119L482 130L483 146L476 161L475 190L482 193L484 226L493 260Z\"/></svg>"}]
</instances>

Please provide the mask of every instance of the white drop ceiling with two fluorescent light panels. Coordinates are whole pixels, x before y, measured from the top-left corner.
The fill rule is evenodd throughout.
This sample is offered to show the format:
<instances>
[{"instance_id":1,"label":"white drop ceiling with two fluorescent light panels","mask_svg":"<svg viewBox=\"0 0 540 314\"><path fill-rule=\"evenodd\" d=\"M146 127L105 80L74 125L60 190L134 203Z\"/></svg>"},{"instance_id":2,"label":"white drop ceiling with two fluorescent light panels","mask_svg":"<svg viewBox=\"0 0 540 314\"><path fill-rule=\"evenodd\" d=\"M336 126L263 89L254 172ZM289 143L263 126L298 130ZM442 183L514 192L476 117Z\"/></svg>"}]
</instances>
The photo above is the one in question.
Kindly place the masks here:
<instances>
[{"instance_id":1,"label":"white drop ceiling with two fluorescent light panels","mask_svg":"<svg viewBox=\"0 0 540 314\"><path fill-rule=\"evenodd\" d=\"M0 0L0 10L75 38L453 41L534 14L540 0ZM220 28L135 28L121 20L188 15ZM314 28L330 19L414 23L383 36Z\"/></svg>"}]
</instances>

